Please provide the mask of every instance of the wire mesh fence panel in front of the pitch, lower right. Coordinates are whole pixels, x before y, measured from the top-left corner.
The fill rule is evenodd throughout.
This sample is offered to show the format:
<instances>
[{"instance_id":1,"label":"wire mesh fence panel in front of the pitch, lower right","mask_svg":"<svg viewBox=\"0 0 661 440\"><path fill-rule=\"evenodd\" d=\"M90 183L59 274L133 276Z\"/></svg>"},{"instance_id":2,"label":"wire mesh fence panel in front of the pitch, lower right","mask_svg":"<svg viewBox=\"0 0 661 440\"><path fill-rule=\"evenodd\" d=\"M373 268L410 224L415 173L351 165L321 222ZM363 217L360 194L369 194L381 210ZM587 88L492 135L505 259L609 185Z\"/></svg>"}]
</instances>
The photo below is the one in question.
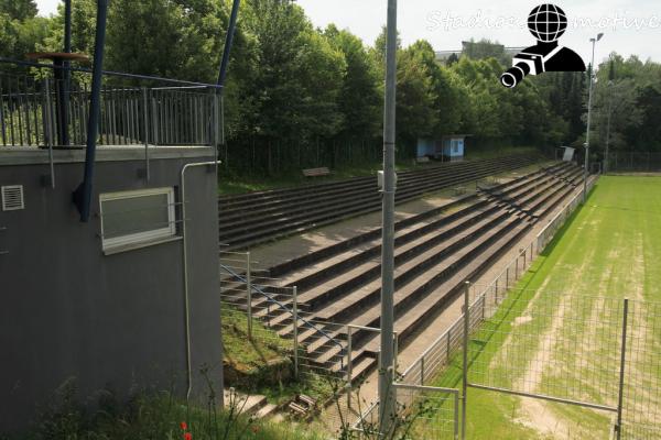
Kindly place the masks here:
<instances>
[{"instance_id":1,"label":"wire mesh fence panel in front of the pitch, lower right","mask_svg":"<svg viewBox=\"0 0 661 440\"><path fill-rule=\"evenodd\" d=\"M467 387L593 411L563 410L572 438L659 438L661 304L525 289L468 298ZM538 406L523 410L534 422Z\"/></svg>"}]
</instances>

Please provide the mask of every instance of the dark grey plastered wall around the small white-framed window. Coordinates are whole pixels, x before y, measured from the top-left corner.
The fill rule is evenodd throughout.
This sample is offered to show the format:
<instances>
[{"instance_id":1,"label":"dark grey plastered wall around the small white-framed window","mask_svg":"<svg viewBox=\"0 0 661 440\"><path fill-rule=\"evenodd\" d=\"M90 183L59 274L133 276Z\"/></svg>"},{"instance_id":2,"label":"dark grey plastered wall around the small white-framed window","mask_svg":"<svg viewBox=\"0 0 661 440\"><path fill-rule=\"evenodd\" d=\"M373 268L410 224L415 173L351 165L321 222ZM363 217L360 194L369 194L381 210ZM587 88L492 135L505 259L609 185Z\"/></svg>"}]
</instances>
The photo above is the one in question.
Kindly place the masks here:
<instances>
[{"instance_id":1,"label":"dark grey plastered wall around the small white-framed window","mask_svg":"<svg viewBox=\"0 0 661 440\"><path fill-rule=\"evenodd\" d=\"M153 148L151 180L143 151L98 152L98 194L175 187L184 164L213 161L210 148ZM0 151L0 185L23 185L25 209L0 210L0 432L22 428L35 406L67 378L83 398L110 388L186 388L183 242L105 255L100 220L80 223L72 191L83 152L56 152L55 189L45 186L44 151ZM44 182L45 180L45 182ZM221 384L217 183L212 167L186 174L192 364ZM181 200L178 200L181 201ZM178 217L178 216L177 216ZM201 385L201 388L197 387Z\"/></svg>"}]
</instances>

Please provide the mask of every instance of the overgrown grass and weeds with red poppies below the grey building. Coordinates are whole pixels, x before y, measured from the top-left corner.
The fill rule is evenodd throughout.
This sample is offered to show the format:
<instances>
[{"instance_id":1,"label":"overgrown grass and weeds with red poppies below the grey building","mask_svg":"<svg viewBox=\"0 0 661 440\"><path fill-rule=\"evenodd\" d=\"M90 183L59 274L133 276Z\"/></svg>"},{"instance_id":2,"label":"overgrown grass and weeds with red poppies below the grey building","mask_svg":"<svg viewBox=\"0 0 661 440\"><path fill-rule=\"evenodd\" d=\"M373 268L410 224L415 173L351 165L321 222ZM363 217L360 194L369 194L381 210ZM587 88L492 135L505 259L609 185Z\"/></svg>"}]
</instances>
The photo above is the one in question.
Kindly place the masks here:
<instances>
[{"instance_id":1,"label":"overgrown grass and weeds with red poppies below the grey building","mask_svg":"<svg viewBox=\"0 0 661 440\"><path fill-rule=\"evenodd\" d=\"M206 405L195 406L170 392L142 392L128 403L100 393L98 407L88 409L76 398L75 382L64 384L29 432L2 440L321 440L310 428L270 424L240 415L234 399L216 407L209 387Z\"/></svg>"}]
</instances>

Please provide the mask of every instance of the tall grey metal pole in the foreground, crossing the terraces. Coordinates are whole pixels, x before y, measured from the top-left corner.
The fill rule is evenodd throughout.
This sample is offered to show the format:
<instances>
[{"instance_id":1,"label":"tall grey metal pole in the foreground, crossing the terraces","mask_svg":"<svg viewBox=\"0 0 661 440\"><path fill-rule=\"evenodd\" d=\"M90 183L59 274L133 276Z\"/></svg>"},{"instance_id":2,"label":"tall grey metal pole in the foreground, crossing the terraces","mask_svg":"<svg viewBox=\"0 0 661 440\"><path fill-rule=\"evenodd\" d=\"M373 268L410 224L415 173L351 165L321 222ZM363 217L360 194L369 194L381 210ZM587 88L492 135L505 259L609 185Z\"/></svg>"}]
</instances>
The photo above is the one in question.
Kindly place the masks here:
<instances>
[{"instance_id":1,"label":"tall grey metal pole in the foreground, crossing the terraces","mask_svg":"<svg viewBox=\"0 0 661 440\"><path fill-rule=\"evenodd\" d=\"M394 386L394 142L397 89L397 0L388 0L386 98L383 112L383 187L381 244L381 355L379 426L387 437L395 418Z\"/></svg>"}]
</instances>

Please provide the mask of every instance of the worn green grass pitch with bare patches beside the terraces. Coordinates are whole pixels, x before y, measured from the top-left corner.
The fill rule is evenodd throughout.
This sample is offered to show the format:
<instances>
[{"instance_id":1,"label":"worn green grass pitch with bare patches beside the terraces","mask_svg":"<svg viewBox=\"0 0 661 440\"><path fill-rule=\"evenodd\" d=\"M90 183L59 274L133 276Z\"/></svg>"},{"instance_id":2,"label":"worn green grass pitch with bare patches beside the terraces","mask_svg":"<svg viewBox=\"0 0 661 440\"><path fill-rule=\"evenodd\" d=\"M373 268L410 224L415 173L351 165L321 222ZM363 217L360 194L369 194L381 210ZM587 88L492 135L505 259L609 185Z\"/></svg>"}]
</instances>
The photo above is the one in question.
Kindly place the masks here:
<instances>
[{"instance_id":1,"label":"worn green grass pitch with bare patches beside the terraces","mask_svg":"<svg viewBox=\"0 0 661 440\"><path fill-rule=\"evenodd\" d=\"M625 421L653 424L661 415L661 323L654 320L661 317L648 309L661 307L642 301L661 301L660 261L661 177L602 177L485 323L489 338L472 338L470 352L478 354L470 381L616 406L620 333L614 323L629 298L635 316ZM535 315L535 307L543 311ZM517 332L529 338L508 340ZM457 358L435 385L460 386ZM496 440L608 439L614 416L474 388L467 415L467 438Z\"/></svg>"}]
</instances>

